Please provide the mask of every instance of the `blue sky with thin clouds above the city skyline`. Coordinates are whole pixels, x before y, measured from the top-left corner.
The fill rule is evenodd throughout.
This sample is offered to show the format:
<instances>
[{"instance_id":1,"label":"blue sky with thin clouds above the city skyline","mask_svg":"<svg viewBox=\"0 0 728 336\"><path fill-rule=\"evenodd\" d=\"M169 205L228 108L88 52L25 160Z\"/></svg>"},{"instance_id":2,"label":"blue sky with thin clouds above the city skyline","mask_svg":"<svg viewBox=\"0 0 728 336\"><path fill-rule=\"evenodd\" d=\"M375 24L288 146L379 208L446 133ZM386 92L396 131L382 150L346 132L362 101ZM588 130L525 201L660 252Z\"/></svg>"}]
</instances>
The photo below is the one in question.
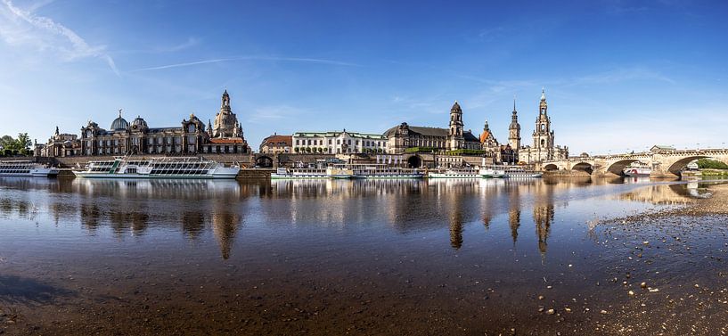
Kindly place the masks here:
<instances>
[{"instance_id":1,"label":"blue sky with thin clouds above the city skyline","mask_svg":"<svg viewBox=\"0 0 728 336\"><path fill-rule=\"evenodd\" d=\"M232 4L231 4L232 3ZM213 119L231 94L250 145L487 119L513 94L531 141L541 87L572 154L728 142L728 2L0 0L0 135Z\"/></svg>"}]
</instances>

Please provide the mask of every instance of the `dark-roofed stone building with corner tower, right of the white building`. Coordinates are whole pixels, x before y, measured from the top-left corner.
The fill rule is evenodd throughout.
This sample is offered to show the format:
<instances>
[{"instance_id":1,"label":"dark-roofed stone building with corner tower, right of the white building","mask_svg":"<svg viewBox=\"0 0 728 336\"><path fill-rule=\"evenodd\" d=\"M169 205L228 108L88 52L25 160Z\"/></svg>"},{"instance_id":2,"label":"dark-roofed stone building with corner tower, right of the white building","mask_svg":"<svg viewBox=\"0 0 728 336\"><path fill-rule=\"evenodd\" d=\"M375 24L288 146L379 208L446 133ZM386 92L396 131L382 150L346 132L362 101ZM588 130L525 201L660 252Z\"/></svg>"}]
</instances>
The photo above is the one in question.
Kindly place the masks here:
<instances>
[{"instance_id":1,"label":"dark-roofed stone building with corner tower, right of the white building","mask_svg":"<svg viewBox=\"0 0 728 336\"><path fill-rule=\"evenodd\" d=\"M406 122L384 132L389 151L405 152L407 148L425 147L438 151L481 149L479 138L464 130L462 109L458 102L450 109L449 128L409 126Z\"/></svg>"}]
</instances>

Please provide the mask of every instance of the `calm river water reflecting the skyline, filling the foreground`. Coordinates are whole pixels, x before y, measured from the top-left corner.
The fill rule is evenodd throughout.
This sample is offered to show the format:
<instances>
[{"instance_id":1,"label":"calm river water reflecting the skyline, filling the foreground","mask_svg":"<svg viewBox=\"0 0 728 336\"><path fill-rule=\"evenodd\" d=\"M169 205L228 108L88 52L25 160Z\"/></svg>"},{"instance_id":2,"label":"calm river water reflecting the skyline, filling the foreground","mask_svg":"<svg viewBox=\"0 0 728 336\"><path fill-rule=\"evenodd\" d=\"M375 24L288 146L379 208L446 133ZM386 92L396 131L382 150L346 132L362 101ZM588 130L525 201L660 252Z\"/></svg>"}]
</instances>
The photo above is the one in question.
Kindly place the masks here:
<instances>
[{"instance_id":1,"label":"calm river water reflecting the skyline, filling the foreground","mask_svg":"<svg viewBox=\"0 0 728 336\"><path fill-rule=\"evenodd\" d=\"M723 293L724 225L603 224L705 186L4 177L0 332L719 334L639 283ZM696 255L667 253L683 249L670 230ZM720 294L705 302L728 318Z\"/></svg>"}]
</instances>

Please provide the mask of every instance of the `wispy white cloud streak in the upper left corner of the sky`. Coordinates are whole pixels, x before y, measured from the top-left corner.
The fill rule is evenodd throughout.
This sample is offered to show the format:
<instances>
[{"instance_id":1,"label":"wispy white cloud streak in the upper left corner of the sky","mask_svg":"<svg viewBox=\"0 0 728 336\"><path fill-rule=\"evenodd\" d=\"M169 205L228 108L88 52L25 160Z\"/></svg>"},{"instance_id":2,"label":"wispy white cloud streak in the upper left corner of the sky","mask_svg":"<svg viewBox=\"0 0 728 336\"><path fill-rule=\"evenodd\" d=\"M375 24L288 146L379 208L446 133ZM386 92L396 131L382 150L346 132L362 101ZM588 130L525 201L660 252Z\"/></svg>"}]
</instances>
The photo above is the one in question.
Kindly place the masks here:
<instances>
[{"instance_id":1,"label":"wispy white cloud streak in the upper left corner of the sky","mask_svg":"<svg viewBox=\"0 0 728 336\"><path fill-rule=\"evenodd\" d=\"M6 20L0 27L0 37L11 45L34 45L40 50L60 52L65 61L95 57L105 61L110 69L119 75L119 70L103 45L89 45L83 37L45 16L24 11L11 0L0 0L4 4L2 14ZM46 4L46 3L42 3ZM38 8L38 6L33 7ZM60 39L59 39L60 38Z\"/></svg>"}]
</instances>

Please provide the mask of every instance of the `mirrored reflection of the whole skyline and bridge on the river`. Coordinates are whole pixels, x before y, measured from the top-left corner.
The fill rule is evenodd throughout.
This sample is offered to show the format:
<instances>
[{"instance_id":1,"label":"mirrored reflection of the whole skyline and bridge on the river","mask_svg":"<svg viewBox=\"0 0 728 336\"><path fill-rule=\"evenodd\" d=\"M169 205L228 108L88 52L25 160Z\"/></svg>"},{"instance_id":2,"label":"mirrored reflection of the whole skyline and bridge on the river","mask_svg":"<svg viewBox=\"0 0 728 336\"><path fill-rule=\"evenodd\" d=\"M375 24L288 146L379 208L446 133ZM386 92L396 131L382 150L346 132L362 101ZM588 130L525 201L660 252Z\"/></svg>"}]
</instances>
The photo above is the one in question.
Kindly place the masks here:
<instances>
[{"instance_id":1,"label":"mirrored reflection of the whole skyline and bridge on the river","mask_svg":"<svg viewBox=\"0 0 728 336\"><path fill-rule=\"evenodd\" d=\"M556 208L565 207L574 196L593 193L580 193L575 187L594 184L601 182L0 179L5 189L0 194L0 216L30 218L37 209L41 213L48 209L55 223L77 221L91 234L107 228L119 239L173 227L189 240L212 235L223 258L231 257L242 223L250 216L259 216L262 225L316 225L335 230L371 225L389 225L400 234L447 229L449 244L456 250L468 240L463 237L466 226L482 224L487 230L492 222L501 221L507 223L504 234L510 231L514 246L525 238L544 255ZM560 193L568 189L572 190ZM665 204L684 202L703 193L701 190L693 184L658 184L619 197ZM533 212L534 236L530 230L519 231L521 226L530 226L522 222L528 220L522 215L529 211Z\"/></svg>"}]
</instances>

